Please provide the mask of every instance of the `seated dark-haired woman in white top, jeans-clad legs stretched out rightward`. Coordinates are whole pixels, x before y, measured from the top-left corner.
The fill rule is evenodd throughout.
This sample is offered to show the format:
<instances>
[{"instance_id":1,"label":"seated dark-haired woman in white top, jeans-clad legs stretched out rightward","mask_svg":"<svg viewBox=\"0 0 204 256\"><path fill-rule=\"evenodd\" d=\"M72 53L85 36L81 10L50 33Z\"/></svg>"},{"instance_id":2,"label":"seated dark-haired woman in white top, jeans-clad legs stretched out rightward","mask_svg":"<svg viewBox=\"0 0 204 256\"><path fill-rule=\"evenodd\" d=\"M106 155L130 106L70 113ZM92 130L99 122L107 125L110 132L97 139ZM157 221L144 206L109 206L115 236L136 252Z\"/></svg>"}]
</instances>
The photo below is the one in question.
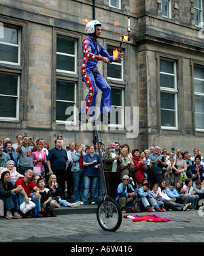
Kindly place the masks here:
<instances>
[{"instance_id":1,"label":"seated dark-haired woman in white top, jeans-clad legs stretched out rightward","mask_svg":"<svg viewBox=\"0 0 204 256\"><path fill-rule=\"evenodd\" d=\"M163 201L166 210L186 211L190 208L190 203L183 205L182 203L176 203L175 198L168 197L165 180L160 180L158 183L158 195L161 196L160 201Z\"/></svg>"}]
</instances>

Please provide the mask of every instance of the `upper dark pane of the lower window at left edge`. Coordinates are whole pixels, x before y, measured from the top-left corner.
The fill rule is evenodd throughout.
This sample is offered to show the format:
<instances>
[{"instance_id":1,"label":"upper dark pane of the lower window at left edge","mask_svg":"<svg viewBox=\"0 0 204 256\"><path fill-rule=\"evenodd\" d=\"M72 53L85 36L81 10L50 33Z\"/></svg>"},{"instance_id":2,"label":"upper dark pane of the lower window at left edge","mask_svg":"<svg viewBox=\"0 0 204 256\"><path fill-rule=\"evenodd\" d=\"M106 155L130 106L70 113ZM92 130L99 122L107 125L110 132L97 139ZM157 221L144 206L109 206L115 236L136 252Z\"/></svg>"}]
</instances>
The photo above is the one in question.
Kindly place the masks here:
<instances>
[{"instance_id":1,"label":"upper dark pane of the lower window at left edge","mask_svg":"<svg viewBox=\"0 0 204 256\"><path fill-rule=\"evenodd\" d=\"M0 73L0 94L17 96L18 76ZM9 106L9 105L8 105Z\"/></svg>"}]
</instances>

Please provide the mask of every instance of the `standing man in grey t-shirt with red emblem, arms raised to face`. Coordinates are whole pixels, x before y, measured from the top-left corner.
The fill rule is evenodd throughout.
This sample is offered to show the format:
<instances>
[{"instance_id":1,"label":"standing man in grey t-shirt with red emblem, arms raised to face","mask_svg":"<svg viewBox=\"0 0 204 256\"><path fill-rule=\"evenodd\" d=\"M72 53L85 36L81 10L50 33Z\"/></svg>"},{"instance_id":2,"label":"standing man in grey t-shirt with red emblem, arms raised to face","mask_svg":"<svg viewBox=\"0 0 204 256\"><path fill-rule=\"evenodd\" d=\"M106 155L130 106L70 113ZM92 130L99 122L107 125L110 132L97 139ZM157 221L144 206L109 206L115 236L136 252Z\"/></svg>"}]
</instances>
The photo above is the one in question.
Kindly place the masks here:
<instances>
[{"instance_id":1,"label":"standing man in grey t-shirt with red emblem, arms raised to face","mask_svg":"<svg viewBox=\"0 0 204 256\"><path fill-rule=\"evenodd\" d=\"M29 141L33 143L33 147L29 146ZM24 175L28 169L33 170L33 157L32 152L37 150L33 138L24 136L20 145L16 148L16 152L19 153L19 168L20 174Z\"/></svg>"}]
</instances>

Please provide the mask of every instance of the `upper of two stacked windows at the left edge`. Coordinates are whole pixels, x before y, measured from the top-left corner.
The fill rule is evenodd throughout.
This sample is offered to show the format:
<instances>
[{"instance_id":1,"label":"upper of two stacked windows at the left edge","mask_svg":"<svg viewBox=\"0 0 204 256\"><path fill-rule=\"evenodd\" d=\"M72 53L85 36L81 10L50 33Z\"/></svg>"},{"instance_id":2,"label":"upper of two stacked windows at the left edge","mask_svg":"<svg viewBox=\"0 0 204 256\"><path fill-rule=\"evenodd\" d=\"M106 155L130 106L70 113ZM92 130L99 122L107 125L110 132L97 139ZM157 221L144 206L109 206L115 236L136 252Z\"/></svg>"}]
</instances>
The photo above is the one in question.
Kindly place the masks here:
<instances>
[{"instance_id":1,"label":"upper of two stacked windows at the left edge","mask_svg":"<svg viewBox=\"0 0 204 256\"><path fill-rule=\"evenodd\" d=\"M20 31L12 27L3 27L0 37L0 62L20 65Z\"/></svg>"}]
</instances>

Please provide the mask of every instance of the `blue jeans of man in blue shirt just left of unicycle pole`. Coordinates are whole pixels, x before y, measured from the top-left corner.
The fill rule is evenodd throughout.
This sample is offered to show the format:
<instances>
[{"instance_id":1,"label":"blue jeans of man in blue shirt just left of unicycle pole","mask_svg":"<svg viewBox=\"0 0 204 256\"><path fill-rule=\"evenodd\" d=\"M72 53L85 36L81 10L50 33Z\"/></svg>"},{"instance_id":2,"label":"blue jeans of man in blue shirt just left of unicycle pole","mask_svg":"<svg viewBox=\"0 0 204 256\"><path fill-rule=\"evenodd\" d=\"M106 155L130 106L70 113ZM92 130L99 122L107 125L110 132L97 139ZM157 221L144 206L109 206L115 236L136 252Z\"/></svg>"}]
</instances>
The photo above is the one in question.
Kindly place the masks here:
<instances>
[{"instance_id":1,"label":"blue jeans of man in blue shirt just left of unicycle pole","mask_svg":"<svg viewBox=\"0 0 204 256\"><path fill-rule=\"evenodd\" d=\"M95 188L97 185L97 176L85 176L84 177L84 193L83 193L83 203L88 203L88 193L90 190L90 197L89 197L89 202L92 203L95 201Z\"/></svg>"}]
</instances>

